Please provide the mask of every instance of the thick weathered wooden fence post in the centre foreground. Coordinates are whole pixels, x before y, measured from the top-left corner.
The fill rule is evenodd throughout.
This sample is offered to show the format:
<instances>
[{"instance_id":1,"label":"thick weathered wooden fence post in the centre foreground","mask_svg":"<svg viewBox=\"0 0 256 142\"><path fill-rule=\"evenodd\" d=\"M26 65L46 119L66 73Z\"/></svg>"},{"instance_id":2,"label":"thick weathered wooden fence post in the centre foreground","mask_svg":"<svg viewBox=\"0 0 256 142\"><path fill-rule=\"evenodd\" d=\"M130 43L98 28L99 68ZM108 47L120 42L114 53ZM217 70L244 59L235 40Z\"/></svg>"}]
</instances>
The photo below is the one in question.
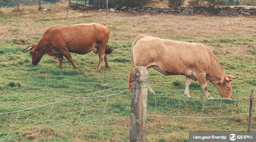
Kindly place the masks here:
<instances>
[{"instance_id":1,"label":"thick weathered wooden fence post in the centre foreground","mask_svg":"<svg viewBox=\"0 0 256 142\"><path fill-rule=\"evenodd\" d=\"M130 108L130 142L145 142L148 72L136 67L132 78L132 102Z\"/></svg>"}]
</instances>

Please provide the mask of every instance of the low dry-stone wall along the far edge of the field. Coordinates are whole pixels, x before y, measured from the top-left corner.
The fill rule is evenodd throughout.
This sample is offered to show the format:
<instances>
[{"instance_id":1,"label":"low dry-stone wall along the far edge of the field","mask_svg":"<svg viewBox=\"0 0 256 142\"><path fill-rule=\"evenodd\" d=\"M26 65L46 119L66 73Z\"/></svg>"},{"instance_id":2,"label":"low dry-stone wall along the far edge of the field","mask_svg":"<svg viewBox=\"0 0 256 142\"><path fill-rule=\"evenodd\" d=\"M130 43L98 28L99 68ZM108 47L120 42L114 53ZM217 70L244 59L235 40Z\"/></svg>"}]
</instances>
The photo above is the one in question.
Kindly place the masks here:
<instances>
[{"instance_id":1,"label":"low dry-stone wall along the far edge of the field","mask_svg":"<svg viewBox=\"0 0 256 142\"><path fill-rule=\"evenodd\" d=\"M202 9L196 9L193 7L176 7L176 8L159 8L159 7L127 7L115 9L116 11L124 12L148 12L151 14L157 13L183 13L185 15L204 13ZM256 15L256 8L245 9L244 7L222 7L220 8L220 15L229 14L242 14L244 16Z\"/></svg>"}]
</instances>

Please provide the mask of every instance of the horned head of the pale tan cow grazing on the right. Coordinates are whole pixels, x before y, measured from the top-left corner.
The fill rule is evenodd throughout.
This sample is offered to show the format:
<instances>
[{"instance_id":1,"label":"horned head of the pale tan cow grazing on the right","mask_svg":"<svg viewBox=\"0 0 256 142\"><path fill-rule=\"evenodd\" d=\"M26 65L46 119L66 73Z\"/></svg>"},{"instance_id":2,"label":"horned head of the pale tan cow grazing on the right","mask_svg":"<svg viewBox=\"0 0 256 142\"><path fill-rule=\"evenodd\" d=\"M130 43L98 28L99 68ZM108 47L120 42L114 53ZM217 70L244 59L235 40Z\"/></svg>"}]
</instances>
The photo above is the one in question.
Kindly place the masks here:
<instances>
[{"instance_id":1,"label":"horned head of the pale tan cow grazing on the right","mask_svg":"<svg viewBox=\"0 0 256 142\"><path fill-rule=\"evenodd\" d=\"M214 85L217 88L218 92L223 98L231 98L232 95L232 79L236 79L238 76L224 76L218 82L215 82Z\"/></svg>"}]
</instances>

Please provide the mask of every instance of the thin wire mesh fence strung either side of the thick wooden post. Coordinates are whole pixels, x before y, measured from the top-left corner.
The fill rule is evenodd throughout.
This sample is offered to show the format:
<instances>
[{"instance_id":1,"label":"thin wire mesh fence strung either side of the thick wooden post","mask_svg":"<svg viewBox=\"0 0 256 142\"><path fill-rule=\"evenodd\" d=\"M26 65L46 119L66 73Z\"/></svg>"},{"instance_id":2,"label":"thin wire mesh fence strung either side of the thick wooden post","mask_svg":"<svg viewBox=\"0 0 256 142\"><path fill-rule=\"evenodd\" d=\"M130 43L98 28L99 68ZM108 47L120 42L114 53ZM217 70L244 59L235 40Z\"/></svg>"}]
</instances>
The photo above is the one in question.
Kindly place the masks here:
<instances>
[{"instance_id":1,"label":"thin wire mesh fence strung either side of the thick wooden post","mask_svg":"<svg viewBox=\"0 0 256 142\"><path fill-rule=\"evenodd\" d=\"M131 84L133 83L136 83L136 82L132 82ZM185 82L186 83L186 82ZM131 85L129 84L129 85ZM103 122L105 120L108 120L108 119L121 119L121 118L126 118L126 117L129 117L129 115L125 115L125 116L121 116L121 117L106 117L106 107L107 107L107 104L109 103L109 99L110 97L112 96L115 96L115 95L120 95L124 92L126 92L126 89L125 90L122 90L122 91L119 91L117 93L113 93L113 94L108 94L108 95L101 95L101 96L91 96L91 95L94 95L94 94L98 94L98 93L102 93L102 92L106 92L106 91L109 91L109 90L113 90L113 89L117 89L117 88L122 88L122 87L127 87L127 84L126 85L122 85L122 86L117 86L117 87L112 87L112 88L108 88L108 89L104 89L102 91L97 91L97 92L94 92L94 93L90 93L90 94L87 94L86 96L89 96L89 97L84 97L84 96L81 96L81 97L69 97L69 98L59 98L59 99L48 99L48 100L40 100L40 101L30 101L30 102L22 102L22 103L6 103L6 104L1 104L0 107L4 107L4 106L16 106L16 105L28 105L28 104L38 104L38 103L46 103L46 102L50 102L50 103L46 103L46 104L43 104L43 105L37 105L36 107L29 107L29 108L25 108L25 109L20 109L20 110L14 110L14 111L7 111L7 112L1 112L0 113L0 116L1 115L8 115L8 114L13 114L13 113L18 113L18 115L16 116L16 119L15 119L15 122L13 124L10 125L10 131L7 133L6 136L4 137L0 137L1 139L5 139L5 140L9 140L11 138L14 138L14 137L18 137L18 136L22 136L22 135L26 135L26 134L29 134L29 133L33 133L33 132L37 132L37 131L41 131L43 130L43 133L44 133L44 129L46 129L46 126L48 125L48 120L49 120L49 116L50 114L52 113L52 110L53 110L53 107L58 104L58 103L61 103L61 102L65 102L65 101L69 101L69 100L78 100L78 99L82 99L83 100L83 104L82 104L82 109L80 110L80 113L79 113L79 117L81 117L81 113L82 111L84 111L85 109L85 100L86 99L97 99L97 98L106 98L106 103L103 107L103 119L97 119L97 120L81 120L81 121L75 121L74 123L78 124L78 123L87 123L87 122L98 122L98 121L102 121L101 123L101 126L103 125ZM168 118L193 118L193 119L222 119L222 118L234 118L235 116L238 116L238 119L239 116L241 115L248 115L249 113L239 113L238 110L239 110L239 104L241 102L242 99L250 99L251 97L248 96L248 97L234 97L233 100L231 101L234 101L234 104L235 104L235 110L234 112L231 114L231 115L228 115L228 116L221 116L221 114L223 113L223 109L222 109L222 105L223 105L223 100L224 99L228 99L228 98L213 98L211 100L220 100L220 104L219 104L219 108L220 108L220 112L218 113L218 115L216 116L203 116L204 114L204 110L206 108L206 98L202 98L202 97L186 97L184 95L176 95L174 93L161 93L161 94L149 94L149 98L150 97L154 97L154 112L151 114L151 113L148 113L147 116L151 116L151 117L168 117ZM157 101L157 96L165 96L165 97L178 97L178 110L177 110L177 114L176 115L159 115L159 114L156 114L157 112L157 109L158 109L158 101ZM200 100L203 100L203 104L202 104L202 109L201 109L201 113L199 114L199 116L181 116L181 98L187 98L187 99L200 99ZM256 97L254 97L256 98ZM51 106L50 107L50 110L47 114L47 119L45 121L45 123L43 124L43 127L41 128L38 128L38 129L34 129L32 131L28 131L28 132L25 132L25 133L20 133L20 134L15 134L14 135L10 135L11 133L11 130L12 128L15 127L15 125L17 124L17 121L20 117L20 113L23 112L23 111L29 111L29 110L34 110L34 109L37 109L37 108L42 108L42 107L46 107L46 106ZM251 114L256 114L256 108L254 110L254 112L252 112ZM71 122L71 124L74 124L73 122ZM50 127L59 127L59 126L63 126L63 125L70 125L67 124L67 123L62 123L62 124L57 124L57 125L52 125ZM103 135L103 130L102 130L102 135Z\"/></svg>"}]
</instances>

